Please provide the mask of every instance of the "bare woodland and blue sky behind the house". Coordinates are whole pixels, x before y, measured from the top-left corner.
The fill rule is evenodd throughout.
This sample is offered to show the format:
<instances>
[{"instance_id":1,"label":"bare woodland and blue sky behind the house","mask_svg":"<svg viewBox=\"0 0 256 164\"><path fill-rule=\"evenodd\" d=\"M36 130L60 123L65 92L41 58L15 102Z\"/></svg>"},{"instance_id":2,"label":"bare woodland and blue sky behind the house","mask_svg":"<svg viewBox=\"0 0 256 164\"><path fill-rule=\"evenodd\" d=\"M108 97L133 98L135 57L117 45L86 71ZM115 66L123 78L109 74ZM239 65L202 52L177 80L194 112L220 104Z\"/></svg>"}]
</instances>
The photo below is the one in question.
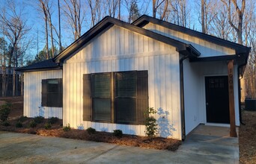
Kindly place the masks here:
<instances>
[{"instance_id":1,"label":"bare woodland and blue sky behind the house","mask_svg":"<svg viewBox=\"0 0 256 164\"><path fill-rule=\"evenodd\" d=\"M255 0L0 0L0 97L22 95L15 68L55 57L105 16L146 14L251 47L243 80L256 98Z\"/></svg>"}]
</instances>

